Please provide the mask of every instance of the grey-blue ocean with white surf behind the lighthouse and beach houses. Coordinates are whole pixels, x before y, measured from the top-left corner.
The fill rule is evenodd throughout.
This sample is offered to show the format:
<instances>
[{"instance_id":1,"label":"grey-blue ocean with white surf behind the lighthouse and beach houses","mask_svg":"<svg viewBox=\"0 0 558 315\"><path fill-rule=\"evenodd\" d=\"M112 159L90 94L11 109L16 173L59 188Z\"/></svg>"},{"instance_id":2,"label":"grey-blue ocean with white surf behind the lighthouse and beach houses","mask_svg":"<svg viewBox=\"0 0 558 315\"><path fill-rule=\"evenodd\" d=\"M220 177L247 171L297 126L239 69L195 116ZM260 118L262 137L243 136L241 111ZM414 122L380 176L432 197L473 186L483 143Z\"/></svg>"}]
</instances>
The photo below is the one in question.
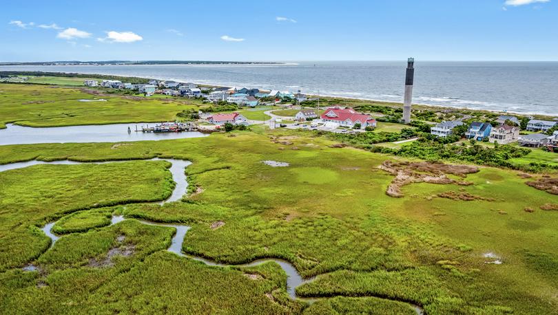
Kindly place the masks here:
<instances>
[{"instance_id":1,"label":"grey-blue ocean with white surf behind the lighthouse and beach houses","mask_svg":"<svg viewBox=\"0 0 558 315\"><path fill-rule=\"evenodd\" d=\"M406 61L285 65L0 66L0 71L114 74L229 87L403 101ZM558 116L558 62L415 61L413 102Z\"/></svg>"}]
</instances>

